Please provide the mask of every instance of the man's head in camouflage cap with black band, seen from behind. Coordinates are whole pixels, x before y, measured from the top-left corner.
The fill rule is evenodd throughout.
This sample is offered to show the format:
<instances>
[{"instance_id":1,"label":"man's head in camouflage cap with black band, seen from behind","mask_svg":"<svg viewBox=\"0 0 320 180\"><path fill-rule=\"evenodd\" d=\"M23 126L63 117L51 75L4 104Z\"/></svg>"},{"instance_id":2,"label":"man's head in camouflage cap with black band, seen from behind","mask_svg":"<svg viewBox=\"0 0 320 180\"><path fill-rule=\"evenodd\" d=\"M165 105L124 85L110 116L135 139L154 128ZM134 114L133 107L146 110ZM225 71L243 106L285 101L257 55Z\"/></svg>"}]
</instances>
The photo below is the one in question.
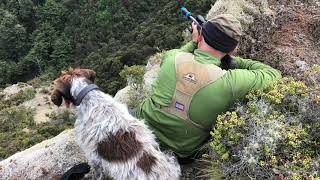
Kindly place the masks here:
<instances>
[{"instance_id":1,"label":"man's head in camouflage cap with black band, seen from behind","mask_svg":"<svg viewBox=\"0 0 320 180\"><path fill-rule=\"evenodd\" d=\"M221 14L209 19L202 26L198 40L199 48L208 45L217 51L228 54L237 47L241 35L240 22L230 14Z\"/></svg>"}]
</instances>

